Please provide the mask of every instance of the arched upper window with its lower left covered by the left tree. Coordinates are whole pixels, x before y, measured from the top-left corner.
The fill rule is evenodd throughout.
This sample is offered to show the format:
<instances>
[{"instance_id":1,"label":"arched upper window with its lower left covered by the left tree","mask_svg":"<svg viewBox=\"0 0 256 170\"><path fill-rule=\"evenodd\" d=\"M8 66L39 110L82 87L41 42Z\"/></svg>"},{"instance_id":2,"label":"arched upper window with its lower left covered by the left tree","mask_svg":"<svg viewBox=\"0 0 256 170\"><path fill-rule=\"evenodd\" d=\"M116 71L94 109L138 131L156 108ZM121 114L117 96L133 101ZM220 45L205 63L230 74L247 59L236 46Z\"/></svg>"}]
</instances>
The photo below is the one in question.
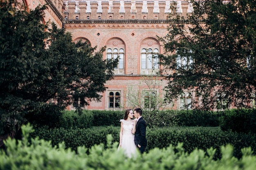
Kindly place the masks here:
<instances>
[{"instance_id":1,"label":"arched upper window with its lower left covered by the left tree","mask_svg":"<svg viewBox=\"0 0 256 170\"><path fill-rule=\"evenodd\" d=\"M119 57L118 64L115 67L115 74L124 74L124 61L125 61L125 44L118 38L112 38L107 42L106 58L114 60Z\"/></svg>"}]
</instances>

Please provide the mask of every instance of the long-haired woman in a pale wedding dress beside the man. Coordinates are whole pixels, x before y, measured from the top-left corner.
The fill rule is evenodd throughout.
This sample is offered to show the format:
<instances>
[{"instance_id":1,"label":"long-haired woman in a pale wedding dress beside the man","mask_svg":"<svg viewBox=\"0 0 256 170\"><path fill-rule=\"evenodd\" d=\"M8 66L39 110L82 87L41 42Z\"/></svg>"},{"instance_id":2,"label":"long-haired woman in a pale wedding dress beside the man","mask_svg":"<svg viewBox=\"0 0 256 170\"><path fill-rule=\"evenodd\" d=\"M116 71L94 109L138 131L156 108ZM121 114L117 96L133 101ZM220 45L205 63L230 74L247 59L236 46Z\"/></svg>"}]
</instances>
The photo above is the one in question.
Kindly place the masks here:
<instances>
[{"instance_id":1,"label":"long-haired woman in a pale wedding dress beside the man","mask_svg":"<svg viewBox=\"0 0 256 170\"><path fill-rule=\"evenodd\" d=\"M127 109L124 115L124 119L121 119L120 139L119 147L124 149L125 154L128 157L132 157L136 153L136 145L134 143L134 134L136 130L136 121L132 120L134 113L132 109Z\"/></svg>"}]
</instances>

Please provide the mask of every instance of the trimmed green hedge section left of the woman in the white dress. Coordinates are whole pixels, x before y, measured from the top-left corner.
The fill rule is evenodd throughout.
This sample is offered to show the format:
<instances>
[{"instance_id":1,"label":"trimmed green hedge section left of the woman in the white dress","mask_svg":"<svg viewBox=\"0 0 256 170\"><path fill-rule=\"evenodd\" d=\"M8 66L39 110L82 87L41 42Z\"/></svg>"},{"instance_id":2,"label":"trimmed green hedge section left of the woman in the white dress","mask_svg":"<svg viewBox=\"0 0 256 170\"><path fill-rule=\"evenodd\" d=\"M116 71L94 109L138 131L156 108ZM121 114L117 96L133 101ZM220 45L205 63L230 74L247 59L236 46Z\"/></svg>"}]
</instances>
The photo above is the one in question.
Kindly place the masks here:
<instances>
[{"instance_id":1,"label":"trimmed green hedge section left of the woman in the white dress","mask_svg":"<svg viewBox=\"0 0 256 170\"><path fill-rule=\"evenodd\" d=\"M31 138L40 137L47 141L52 141L53 146L58 146L58 143L65 142L66 148L76 150L79 146L91 148L95 144L106 144L106 137L111 134L114 141L119 141L120 128L108 127L92 127L92 128L36 128L35 132L31 133Z\"/></svg>"}]
</instances>

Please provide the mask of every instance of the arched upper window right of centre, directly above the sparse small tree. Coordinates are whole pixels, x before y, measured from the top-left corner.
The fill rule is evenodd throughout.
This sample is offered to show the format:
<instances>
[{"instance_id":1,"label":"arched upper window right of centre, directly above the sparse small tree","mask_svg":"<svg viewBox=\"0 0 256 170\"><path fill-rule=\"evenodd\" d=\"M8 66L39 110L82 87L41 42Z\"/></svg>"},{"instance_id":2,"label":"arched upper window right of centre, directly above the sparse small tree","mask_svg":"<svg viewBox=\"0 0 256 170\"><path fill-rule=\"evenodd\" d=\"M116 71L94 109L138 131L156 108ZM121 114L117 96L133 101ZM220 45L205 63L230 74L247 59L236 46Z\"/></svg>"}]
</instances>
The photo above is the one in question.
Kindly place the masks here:
<instances>
[{"instance_id":1,"label":"arched upper window right of centre, directly above the sparse small tree","mask_svg":"<svg viewBox=\"0 0 256 170\"><path fill-rule=\"evenodd\" d=\"M159 55L160 45L153 38L145 39L141 43L141 74L156 74L159 71Z\"/></svg>"}]
</instances>

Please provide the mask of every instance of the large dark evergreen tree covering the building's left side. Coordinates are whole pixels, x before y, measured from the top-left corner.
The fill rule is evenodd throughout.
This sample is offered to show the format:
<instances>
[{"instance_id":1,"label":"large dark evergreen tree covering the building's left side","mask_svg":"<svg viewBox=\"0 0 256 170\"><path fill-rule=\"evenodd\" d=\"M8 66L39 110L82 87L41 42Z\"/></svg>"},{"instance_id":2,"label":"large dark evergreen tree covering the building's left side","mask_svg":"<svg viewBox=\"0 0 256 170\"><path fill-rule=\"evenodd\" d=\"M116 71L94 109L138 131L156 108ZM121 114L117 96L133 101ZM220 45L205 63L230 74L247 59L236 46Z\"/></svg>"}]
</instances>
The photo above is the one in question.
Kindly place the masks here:
<instances>
[{"instance_id":1,"label":"large dark evergreen tree covering the building's left side","mask_svg":"<svg viewBox=\"0 0 256 170\"><path fill-rule=\"evenodd\" d=\"M103 60L104 48L95 52L44 24L47 6L15 7L13 0L0 1L0 134L26 121L51 126L67 105L100 100L117 62Z\"/></svg>"}]
</instances>

